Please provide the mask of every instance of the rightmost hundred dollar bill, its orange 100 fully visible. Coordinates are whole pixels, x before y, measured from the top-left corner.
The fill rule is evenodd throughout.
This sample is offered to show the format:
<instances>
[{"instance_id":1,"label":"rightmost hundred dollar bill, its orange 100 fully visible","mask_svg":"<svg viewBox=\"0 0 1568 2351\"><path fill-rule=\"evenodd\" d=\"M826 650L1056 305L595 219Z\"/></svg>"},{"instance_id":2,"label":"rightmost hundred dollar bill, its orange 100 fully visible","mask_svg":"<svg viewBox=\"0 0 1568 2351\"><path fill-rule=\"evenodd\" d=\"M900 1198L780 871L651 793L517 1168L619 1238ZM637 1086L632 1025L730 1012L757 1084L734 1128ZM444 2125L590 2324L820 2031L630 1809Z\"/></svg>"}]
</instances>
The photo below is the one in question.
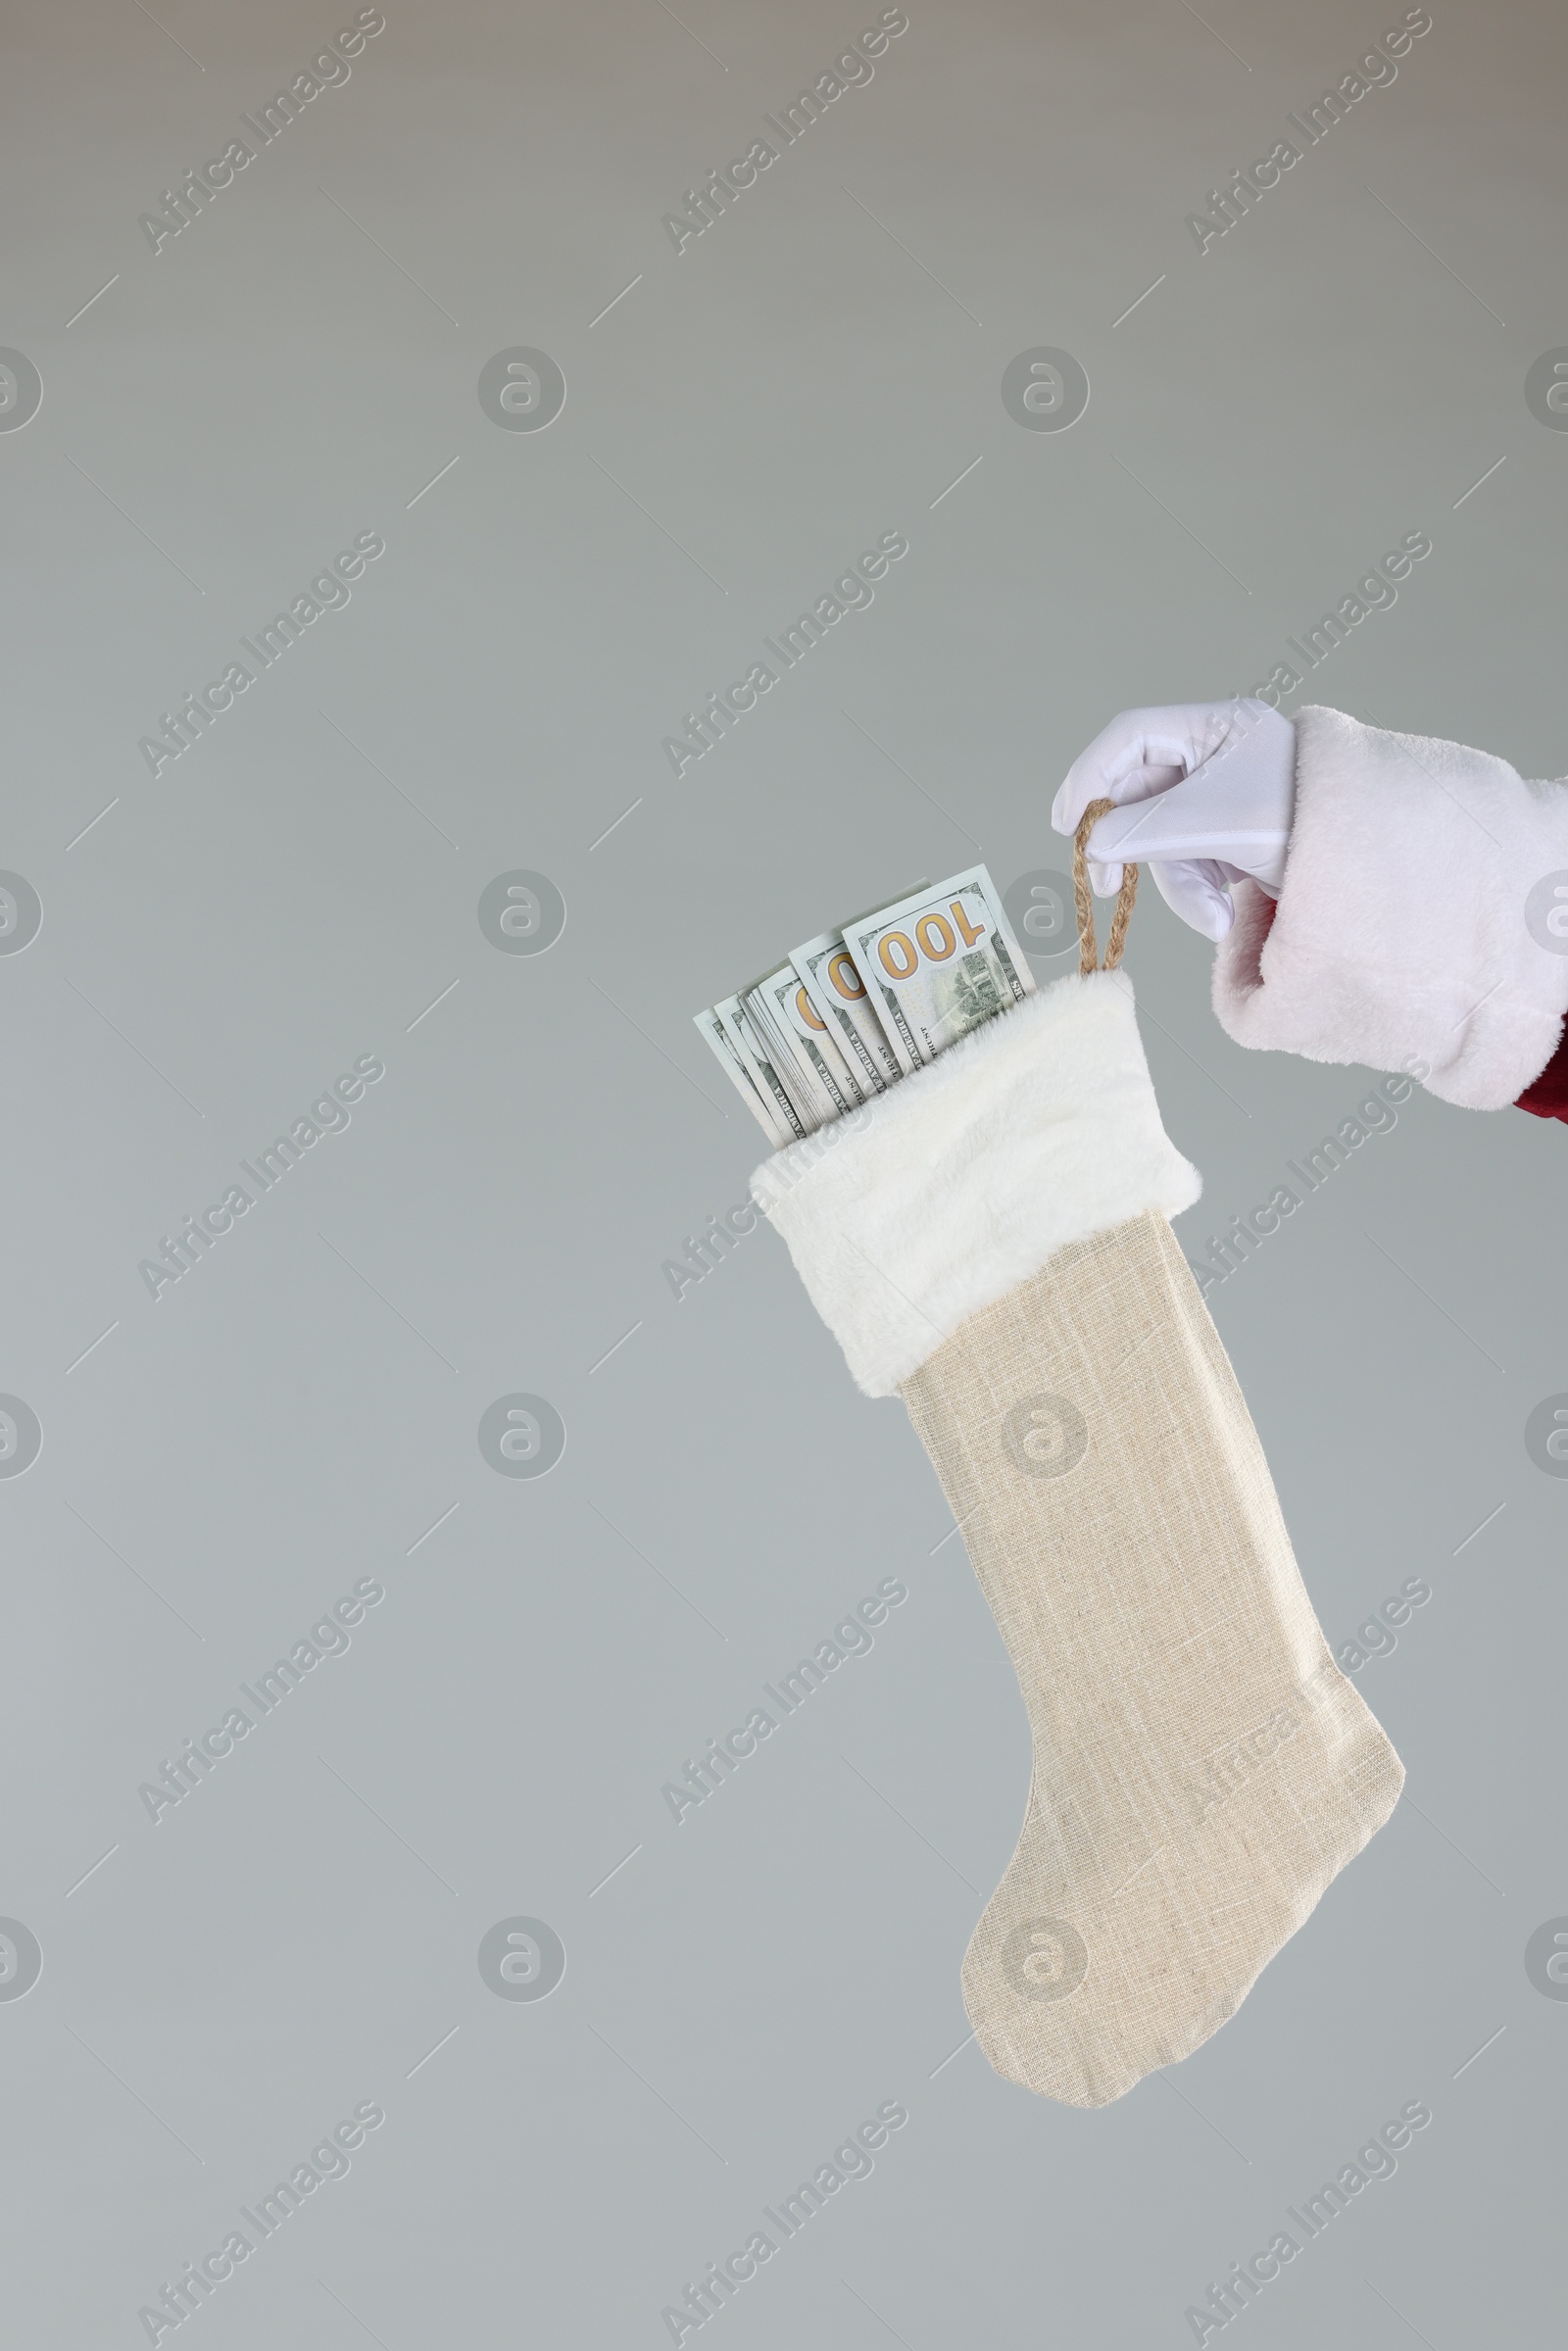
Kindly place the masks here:
<instances>
[{"instance_id":1,"label":"rightmost hundred dollar bill, its orange 100 fully visible","mask_svg":"<svg viewBox=\"0 0 1568 2351\"><path fill-rule=\"evenodd\" d=\"M856 917L844 943L905 1077L1034 994L985 865Z\"/></svg>"}]
</instances>

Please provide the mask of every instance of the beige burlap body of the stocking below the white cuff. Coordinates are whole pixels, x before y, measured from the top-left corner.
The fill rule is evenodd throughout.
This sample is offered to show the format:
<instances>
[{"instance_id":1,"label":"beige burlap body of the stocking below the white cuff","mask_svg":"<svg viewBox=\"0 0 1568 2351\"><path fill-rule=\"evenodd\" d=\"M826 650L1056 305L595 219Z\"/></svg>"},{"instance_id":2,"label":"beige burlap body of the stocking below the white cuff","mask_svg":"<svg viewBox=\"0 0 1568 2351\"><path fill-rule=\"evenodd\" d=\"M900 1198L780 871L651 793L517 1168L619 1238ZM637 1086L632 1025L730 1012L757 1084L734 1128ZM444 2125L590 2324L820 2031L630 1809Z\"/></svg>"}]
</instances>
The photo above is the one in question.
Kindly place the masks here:
<instances>
[{"instance_id":1,"label":"beige burlap body of the stocking below the white cuff","mask_svg":"<svg viewBox=\"0 0 1568 2351\"><path fill-rule=\"evenodd\" d=\"M1164 1215L1060 1248L900 1394L1034 1737L964 2003L999 2074L1100 2106L1234 2015L1403 1768Z\"/></svg>"}]
</instances>

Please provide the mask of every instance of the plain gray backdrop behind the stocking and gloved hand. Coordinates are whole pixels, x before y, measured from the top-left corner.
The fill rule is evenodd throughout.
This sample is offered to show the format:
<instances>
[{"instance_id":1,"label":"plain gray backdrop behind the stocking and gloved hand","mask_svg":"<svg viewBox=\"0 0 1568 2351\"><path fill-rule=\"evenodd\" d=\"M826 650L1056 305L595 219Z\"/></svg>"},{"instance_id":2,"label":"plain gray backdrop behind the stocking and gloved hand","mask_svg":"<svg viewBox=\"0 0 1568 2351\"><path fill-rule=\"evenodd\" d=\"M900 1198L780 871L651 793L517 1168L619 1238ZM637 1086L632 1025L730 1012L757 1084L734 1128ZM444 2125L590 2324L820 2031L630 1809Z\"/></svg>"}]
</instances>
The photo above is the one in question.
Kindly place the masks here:
<instances>
[{"instance_id":1,"label":"plain gray backdrop behind the stocking and gloved hand","mask_svg":"<svg viewBox=\"0 0 1568 2351\"><path fill-rule=\"evenodd\" d=\"M1436 0L1204 256L1185 214L1399 7L910 0L679 256L661 216L872 7L388 0L158 256L139 214L353 9L155 14L16 9L0 99L0 343L45 383L0 435L0 865L45 905L0 959L0 1387L45 1429L0 1483L0 1911L45 1951L0 2003L7 2337L143 2342L381 2099L209 2344L668 2342L903 2099L724 2337L1145 2351L1427 2099L1248 2337L1547 2344L1568 1481L1523 1422L1568 1389L1561 1126L1418 1098L1213 1295L1331 1641L1432 1582L1361 1674L1408 1796L1100 2114L945 2062L1027 1737L900 1408L766 1230L679 1302L661 1265L759 1157L698 1004L917 875L1060 865L1051 792L1119 708L1246 689L1401 534L1432 557L1312 696L1568 764L1568 437L1523 402L1568 341L1561 14ZM1039 343L1088 371L1070 433L1001 407ZM510 346L564 369L545 433L477 402ZM350 607L153 781L158 712L364 529ZM889 529L875 607L675 781L661 736ZM543 957L477 926L510 868L567 900ZM1128 966L1197 1253L1366 1074L1232 1049L1152 891ZM360 1053L353 1126L153 1302L160 1234ZM536 1483L475 1441L515 1389L569 1432ZM350 1653L155 1827L139 1784L364 1575ZM661 1784L886 1575L877 1648L677 1827ZM538 2005L477 1972L515 1914L567 1947Z\"/></svg>"}]
</instances>

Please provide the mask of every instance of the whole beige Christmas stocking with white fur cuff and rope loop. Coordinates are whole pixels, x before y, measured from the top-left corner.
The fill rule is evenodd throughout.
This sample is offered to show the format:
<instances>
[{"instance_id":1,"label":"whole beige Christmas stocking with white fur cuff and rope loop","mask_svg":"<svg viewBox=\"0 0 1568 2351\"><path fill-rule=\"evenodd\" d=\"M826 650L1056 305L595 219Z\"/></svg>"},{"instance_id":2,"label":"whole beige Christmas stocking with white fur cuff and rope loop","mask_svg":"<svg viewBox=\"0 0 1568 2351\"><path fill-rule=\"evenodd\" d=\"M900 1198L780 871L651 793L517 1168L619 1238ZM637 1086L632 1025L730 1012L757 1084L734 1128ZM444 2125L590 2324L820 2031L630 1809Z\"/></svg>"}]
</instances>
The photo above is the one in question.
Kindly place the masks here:
<instances>
[{"instance_id":1,"label":"whole beige Christmas stocking with white fur cuff and rope loop","mask_svg":"<svg viewBox=\"0 0 1568 2351\"><path fill-rule=\"evenodd\" d=\"M1335 1667L1241 1389L1168 1218L1117 966L1081 969L752 1194L870 1396L900 1394L1034 1740L1018 1850L964 1961L980 2048L1074 2106L1199 2048L1399 1801Z\"/></svg>"}]
</instances>

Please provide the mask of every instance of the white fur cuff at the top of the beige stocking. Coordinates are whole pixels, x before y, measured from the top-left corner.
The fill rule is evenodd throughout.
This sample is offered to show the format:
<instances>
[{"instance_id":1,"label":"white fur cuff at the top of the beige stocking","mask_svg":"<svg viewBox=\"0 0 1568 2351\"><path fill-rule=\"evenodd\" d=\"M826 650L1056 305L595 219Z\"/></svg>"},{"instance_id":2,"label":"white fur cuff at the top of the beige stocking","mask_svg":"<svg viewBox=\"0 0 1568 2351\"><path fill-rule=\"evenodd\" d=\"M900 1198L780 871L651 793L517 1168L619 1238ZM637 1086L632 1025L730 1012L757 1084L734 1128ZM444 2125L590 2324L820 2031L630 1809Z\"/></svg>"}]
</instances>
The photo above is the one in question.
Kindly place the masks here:
<instances>
[{"instance_id":1,"label":"white fur cuff at the top of the beige stocking","mask_svg":"<svg viewBox=\"0 0 1568 2351\"><path fill-rule=\"evenodd\" d=\"M867 1396L1058 1248L1199 1192L1159 1124L1124 971L1056 980L752 1176Z\"/></svg>"}]
</instances>

